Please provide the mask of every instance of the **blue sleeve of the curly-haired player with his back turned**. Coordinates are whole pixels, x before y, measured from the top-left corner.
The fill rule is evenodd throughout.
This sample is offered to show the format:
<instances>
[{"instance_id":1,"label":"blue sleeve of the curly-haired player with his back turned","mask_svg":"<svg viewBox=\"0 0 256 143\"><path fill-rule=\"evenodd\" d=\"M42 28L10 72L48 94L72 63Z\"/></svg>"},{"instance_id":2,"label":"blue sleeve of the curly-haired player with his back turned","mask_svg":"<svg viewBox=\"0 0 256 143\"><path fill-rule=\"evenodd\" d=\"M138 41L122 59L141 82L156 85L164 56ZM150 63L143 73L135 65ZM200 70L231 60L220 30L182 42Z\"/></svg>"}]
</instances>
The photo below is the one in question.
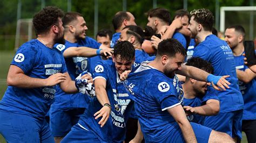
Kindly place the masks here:
<instances>
[{"instance_id":1,"label":"blue sleeve of the curly-haired player with his back turned","mask_svg":"<svg viewBox=\"0 0 256 143\"><path fill-rule=\"evenodd\" d=\"M199 58L202 58L202 59L204 59L206 61L210 61L211 51L210 51L210 49L208 47L199 44L194 49L193 57L199 57Z\"/></svg>"}]
</instances>

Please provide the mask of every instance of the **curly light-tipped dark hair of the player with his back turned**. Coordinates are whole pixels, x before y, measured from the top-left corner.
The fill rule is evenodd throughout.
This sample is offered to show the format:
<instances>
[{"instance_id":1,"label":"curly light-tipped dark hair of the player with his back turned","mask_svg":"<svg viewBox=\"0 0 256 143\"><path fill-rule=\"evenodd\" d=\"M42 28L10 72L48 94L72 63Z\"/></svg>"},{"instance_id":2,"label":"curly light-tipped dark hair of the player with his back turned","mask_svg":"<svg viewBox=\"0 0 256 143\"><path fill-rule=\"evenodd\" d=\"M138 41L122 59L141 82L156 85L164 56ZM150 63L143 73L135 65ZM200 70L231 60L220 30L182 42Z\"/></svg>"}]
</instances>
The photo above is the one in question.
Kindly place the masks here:
<instances>
[{"instance_id":1,"label":"curly light-tipped dark hair of the player with his back turned","mask_svg":"<svg viewBox=\"0 0 256 143\"><path fill-rule=\"evenodd\" d=\"M191 17L194 16L194 20L204 27L205 31L212 31L214 23L214 16L208 9L197 9L190 12Z\"/></svg>"}]
</instances>

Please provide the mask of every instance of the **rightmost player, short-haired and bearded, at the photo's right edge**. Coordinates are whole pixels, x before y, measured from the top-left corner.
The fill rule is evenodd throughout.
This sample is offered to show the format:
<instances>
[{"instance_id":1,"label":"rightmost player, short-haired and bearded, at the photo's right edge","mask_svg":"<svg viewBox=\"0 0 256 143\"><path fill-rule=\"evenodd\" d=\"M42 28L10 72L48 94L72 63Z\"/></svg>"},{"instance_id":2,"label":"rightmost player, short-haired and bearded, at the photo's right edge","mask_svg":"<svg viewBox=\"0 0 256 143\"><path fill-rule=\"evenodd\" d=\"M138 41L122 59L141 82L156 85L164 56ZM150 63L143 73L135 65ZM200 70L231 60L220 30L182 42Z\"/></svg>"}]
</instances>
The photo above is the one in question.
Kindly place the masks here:
<instances>
[{"instance_id":1,"label":"rightmost player, short-haired and bearded, at the photo's right edge","mask_svg":"<svg viewBox=\"0 0 256 143\"><path fill-rule=\"evenodd\" d=\"M239 88L245 103L242 115L242 131L246 133L248 142L256 142L256 74L244 64L244 56L242 56L245 53L244 39L244 27L241 25L227 27L225 41L232 49L234 55Z\"/></svg>"}]
</instances>

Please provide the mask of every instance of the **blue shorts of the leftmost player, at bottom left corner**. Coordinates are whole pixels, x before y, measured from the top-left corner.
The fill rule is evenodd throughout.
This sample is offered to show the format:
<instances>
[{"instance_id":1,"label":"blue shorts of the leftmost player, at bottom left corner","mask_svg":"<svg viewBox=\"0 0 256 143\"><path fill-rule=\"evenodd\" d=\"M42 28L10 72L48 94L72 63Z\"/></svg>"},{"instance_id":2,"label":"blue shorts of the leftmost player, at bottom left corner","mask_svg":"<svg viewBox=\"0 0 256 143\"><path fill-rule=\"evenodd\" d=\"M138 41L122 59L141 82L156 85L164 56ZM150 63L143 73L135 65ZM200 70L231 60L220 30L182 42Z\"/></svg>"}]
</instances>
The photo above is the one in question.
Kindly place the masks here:
<instances>
[{"instance_id":1,"label":"blue shorts of the leftmost player, at bottom left corner","mask_svg":"<svg viewBox=\"0 0 256 143\"><path fill-rule=\"evenodd\" d=\"M54 142L45 119L4 110L0 110L0 119L0 133L6 142Z\"/></svg>"}]
</instances>

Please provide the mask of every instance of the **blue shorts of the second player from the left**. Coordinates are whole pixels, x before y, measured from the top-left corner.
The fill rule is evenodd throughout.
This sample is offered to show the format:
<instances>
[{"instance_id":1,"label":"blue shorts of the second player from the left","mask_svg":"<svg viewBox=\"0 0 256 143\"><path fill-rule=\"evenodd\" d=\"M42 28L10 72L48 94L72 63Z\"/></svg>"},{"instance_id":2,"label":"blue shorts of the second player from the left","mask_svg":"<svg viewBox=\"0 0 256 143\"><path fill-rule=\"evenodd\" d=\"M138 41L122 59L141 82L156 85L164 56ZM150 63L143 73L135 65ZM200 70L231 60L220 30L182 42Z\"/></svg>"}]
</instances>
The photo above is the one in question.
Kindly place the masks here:
<instances>
[{"instance_id":1,"label":"blue shorts of the second player from the left","mask_svg":"<svg viewBox=\"0 0 256 143\"><path fill-rule=\"evenodd\" d=\"M84 110L85 108L51 108L50 128L53 137L65 137L70 132L71 127L78 123Z\"/></svg>"}]
</instances>

